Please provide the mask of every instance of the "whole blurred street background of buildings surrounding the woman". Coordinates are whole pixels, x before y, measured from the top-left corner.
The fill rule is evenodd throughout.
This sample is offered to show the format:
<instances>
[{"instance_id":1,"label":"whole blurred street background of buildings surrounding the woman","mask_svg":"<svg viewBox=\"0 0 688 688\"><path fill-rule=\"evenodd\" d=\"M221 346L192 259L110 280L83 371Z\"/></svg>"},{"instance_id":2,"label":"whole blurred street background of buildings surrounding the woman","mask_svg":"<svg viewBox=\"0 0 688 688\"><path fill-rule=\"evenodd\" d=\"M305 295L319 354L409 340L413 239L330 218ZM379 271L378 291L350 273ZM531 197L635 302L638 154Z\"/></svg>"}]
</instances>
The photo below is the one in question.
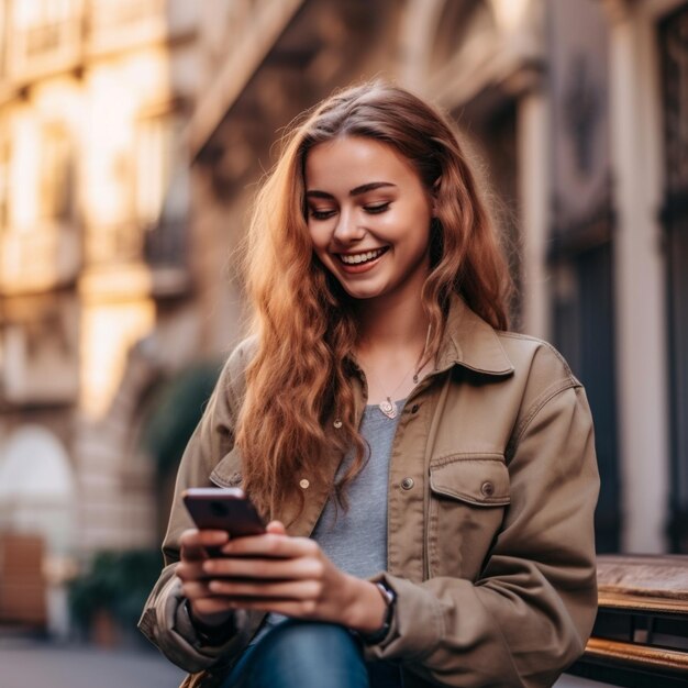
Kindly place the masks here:
<instances>
[{"instance_id":1,"label":"whole blurred street background of buildings surrounding the woman","mask_svg":"<svg viewBox=\"0 0 688 688\"><path fill-rule=\"evenodd\" d=\"M373 77L456 121L586 386L599 552L688 552L686 0L0 0L0 688L178 683L135 623L247 209Z\"/></svg>"}]
</instances>

